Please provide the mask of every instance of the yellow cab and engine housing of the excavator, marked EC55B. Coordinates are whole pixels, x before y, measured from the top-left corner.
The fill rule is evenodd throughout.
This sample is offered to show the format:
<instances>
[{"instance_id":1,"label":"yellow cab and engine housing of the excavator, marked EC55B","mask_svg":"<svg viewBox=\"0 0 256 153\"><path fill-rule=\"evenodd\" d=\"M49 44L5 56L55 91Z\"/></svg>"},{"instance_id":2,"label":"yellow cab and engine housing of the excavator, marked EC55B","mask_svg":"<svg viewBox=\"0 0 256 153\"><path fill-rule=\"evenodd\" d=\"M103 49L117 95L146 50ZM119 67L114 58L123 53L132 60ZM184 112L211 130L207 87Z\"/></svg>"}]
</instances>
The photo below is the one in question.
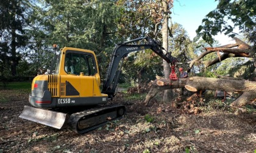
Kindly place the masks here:
<instances>
[{"instance_id":1,"label":"yellow cab and engine housing of the excavator, marked EC55B","mask_svg":"<svg viewBox=\"0 0 256 153\"><path fill-rule=\"evenodd\" d=\"M50 75L32 82L29 102L35 107L89 106L107 103L100 90L98 63L90 50L65 47L54 60Z\"/></svg>"}]
</instances>

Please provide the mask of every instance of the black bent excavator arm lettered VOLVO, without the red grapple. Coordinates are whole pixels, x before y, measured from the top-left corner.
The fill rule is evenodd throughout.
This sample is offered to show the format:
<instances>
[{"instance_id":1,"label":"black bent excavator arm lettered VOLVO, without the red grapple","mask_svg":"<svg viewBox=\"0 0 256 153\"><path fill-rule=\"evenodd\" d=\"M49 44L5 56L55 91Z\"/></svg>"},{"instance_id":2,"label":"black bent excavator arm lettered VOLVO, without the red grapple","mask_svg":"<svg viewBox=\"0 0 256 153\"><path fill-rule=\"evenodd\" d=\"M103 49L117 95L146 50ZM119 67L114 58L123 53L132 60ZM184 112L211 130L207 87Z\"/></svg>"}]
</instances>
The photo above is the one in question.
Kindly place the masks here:
<instances>
[{"instance_id":1,"label":"black bent excavator arm lettered VOLVO, without the red grapple","mask_svg":"<svg viewBox=\"0 0 256 153\"><path fill-rule=\"evenodd\" d=\"M146 44L130 44L132 42L138 42L143 39L146 39ZM171 56L171 52L163 52L163 47L159 42L155 41L150 37L143 37L132 39L130 41L122 42L116 45L115 50L112 54L112 59L108 66L107 75L105 77L105 82L103 84L102 93L108 94L108 98L112 100L115 96L116 86L121 74L121 70L118 70L118 67L121 67L123 64L123 59L131 52L136 52L140 50L151 49L157 55L159 55L167 63L177 63L178 60Z\"/></svg>"}]
</instances>

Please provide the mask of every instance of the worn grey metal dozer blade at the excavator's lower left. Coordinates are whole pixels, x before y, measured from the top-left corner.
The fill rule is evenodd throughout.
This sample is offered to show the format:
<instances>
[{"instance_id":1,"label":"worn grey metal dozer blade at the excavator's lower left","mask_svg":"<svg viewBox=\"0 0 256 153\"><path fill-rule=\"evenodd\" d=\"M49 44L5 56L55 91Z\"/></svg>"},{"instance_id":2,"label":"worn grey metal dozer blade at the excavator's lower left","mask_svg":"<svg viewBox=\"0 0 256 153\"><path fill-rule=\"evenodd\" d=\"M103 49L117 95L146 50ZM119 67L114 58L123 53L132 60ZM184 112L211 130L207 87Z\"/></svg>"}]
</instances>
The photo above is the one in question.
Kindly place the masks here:
<instances>
[{"instance_id":1,"label":"worn grey metal dozer blade at the excavator's lower left","mask_svg":"<svg viewBox=\"0 0 256 153\"><path fill-rule=\"evenodd\" d=\"M65 128L68 123L68 114L30 106L24 106L20 118L55 127L57 129Z\"/></svg>"}]
</instances>

